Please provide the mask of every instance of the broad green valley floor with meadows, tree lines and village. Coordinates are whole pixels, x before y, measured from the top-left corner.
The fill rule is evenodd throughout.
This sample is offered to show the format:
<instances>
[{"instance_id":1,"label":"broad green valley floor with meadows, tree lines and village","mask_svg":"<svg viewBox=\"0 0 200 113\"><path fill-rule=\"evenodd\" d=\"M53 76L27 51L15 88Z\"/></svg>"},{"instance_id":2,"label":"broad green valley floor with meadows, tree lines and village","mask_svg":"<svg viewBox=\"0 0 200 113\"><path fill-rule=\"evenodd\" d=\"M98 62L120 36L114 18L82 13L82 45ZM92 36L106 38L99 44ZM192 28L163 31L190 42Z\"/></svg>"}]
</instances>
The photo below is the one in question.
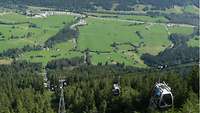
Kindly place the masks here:
<instances>
[{"instance_id":1,"label":"broad green valley floor with meadows, tree lines and village","mask_svg":"<svg viewBox=\"0 0 200 113\"><path fill-rule=\"evenodd\" d=\"M143 56L173 50L175 42L170 40L173 34L177 34L174 35L177 38L179 35L188 37L181 44L185 44L188 52L194 48L193 57L187 57L183 50L181 56L185 59L179 58L179 63L171 59L170 63L154 62L155 65L196 62L198 59L197 27L170 23L165 16L61 11L42 11L33 15L14 12L0 15L0 56L3 60L28 60L45 66L54 59L85 57L85 62L93 65L120 63L147 67L147 62L151 61Z\"/></svg>"}]
</instances>

